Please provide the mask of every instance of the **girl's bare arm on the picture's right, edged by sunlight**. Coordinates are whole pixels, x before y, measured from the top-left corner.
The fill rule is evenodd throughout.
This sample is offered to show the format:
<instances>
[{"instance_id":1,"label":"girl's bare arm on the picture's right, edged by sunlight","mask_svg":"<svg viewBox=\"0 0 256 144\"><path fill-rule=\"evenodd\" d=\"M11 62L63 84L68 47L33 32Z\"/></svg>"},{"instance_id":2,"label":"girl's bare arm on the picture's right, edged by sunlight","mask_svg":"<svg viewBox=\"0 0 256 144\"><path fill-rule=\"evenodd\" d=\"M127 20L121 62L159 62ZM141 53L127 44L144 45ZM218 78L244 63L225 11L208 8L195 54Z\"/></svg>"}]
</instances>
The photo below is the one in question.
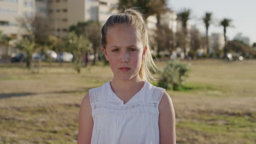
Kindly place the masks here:
<instances>
[{"instance_id":1,"label":"girl's bare arm on the picture's right, edged by sunlight","mask_svg":"<svg viewBox=\"0 0 256 144\"><path fill-rule=\"evenodd\" d=\"M170 96L164 92L159 103L160 144L176 144L175 113Z\"/></svg>"}]
</instances>

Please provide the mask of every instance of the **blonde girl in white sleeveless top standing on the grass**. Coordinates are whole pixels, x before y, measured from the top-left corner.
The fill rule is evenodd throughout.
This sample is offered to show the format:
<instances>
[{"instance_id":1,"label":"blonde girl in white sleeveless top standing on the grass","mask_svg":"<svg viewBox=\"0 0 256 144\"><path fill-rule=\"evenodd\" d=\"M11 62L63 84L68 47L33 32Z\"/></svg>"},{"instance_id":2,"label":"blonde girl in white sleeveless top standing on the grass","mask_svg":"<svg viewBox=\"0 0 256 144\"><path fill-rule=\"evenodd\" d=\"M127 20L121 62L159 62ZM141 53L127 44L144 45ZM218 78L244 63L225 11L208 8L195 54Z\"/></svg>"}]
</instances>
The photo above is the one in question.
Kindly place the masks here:
<instances>
[{"instance_id":1,"label":"blonde girl in white sleeveless top standing on the grass","mask_svg":"<svg viewBox=\"0 0 256 144\"><path fill-rule=\"evenodd\" d=\"M171 98L148 82L156 66L142 14L127 9L112 15L101 34L114 77L83 98L78 143L176 143Z\"/></svg>"}]
</instances>

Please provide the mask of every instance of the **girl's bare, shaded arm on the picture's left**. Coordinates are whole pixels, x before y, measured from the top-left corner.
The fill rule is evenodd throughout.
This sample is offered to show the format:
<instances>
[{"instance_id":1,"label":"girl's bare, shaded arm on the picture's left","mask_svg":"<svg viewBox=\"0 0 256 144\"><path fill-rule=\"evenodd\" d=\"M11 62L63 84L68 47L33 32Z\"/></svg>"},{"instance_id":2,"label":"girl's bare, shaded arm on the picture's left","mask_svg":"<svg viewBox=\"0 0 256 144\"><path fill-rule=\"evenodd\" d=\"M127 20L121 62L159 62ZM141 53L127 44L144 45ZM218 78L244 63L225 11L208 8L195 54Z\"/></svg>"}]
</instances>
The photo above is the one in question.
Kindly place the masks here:
<instances>
[{"instance_id":1,"label":"girl's bare, shaded arm on the picture's left","mask_svg":"<svg viewBox=\"0 0 256 144\"><path fill-rule=\"evenodd\" d=\"M79 110L78 144L90 144L94 121L91 116L91 104L89 93L82 100Z\"/></svg>"}]
</instances>

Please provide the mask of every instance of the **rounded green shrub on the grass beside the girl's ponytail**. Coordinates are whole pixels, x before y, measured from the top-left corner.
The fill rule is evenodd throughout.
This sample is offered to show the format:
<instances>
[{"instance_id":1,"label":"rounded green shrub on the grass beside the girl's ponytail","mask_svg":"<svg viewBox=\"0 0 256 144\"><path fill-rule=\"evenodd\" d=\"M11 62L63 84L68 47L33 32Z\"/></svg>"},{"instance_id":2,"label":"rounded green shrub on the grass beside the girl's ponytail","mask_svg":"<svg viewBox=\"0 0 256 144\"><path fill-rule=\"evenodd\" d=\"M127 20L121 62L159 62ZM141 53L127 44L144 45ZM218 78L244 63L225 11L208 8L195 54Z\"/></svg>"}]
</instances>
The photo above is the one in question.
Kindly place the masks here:
<instances>
[{"instance_id":1,"label":"rounded green shrub on the grass beside the girl's ponytail","mask_svg":"<svg viewBox=\"0 0 256 144\"><path fill-rule=\"evenodd\" d=\"M158 86L178 91L180 87L184 87L189 70L188 64L181 63L178 60L168 61L167 66L162 71Z\"/></svg>"}]
</instances>

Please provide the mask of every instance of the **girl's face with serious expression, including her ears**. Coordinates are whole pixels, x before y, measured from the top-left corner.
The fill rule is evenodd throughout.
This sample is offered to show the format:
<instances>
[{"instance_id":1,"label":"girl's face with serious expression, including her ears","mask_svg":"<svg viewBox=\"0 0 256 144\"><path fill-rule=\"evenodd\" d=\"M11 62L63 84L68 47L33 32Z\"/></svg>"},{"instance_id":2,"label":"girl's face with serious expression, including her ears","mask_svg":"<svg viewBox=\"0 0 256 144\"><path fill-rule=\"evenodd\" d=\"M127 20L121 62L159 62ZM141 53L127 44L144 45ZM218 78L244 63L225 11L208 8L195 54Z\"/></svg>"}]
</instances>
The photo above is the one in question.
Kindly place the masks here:
<instances>
[{"instance_id":1,"label":"girl's face with serious expression, including her ears","mask_svg":"<svg viewBox=\"0 0 256 144\"><path fill-rule=\"evenodd\" d=\"M142 57L146 53L138 40L136 28L118 24L107 29L106 47L102 48L114 73L114 79L130 80L139 78Z\"/></svg>"}]
</instances>

